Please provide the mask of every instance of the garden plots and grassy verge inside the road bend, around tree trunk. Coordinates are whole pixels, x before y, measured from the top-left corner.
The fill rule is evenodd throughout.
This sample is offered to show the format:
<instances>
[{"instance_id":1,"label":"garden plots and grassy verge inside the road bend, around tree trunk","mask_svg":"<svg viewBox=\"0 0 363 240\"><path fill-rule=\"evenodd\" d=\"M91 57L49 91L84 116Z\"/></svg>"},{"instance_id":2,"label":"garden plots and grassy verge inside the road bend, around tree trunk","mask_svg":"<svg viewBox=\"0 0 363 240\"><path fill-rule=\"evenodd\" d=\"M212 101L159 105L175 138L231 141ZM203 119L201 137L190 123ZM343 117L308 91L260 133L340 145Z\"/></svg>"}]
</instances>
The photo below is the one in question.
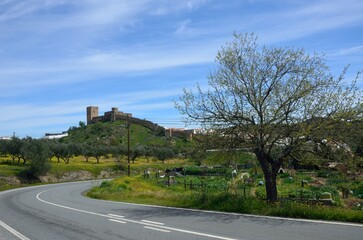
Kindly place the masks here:
<instances>
[{"instance_id":1,"label":"garden plots and grassy verge inside the road bend, around tree trunk","mask_svg":"<svg viewBox=\"0 0 363 240\"><path fill-rule=\"evenodd\" d=\"M190 162L179 162L179 166L181 164ZM149 174L146 175L142 173L103 181L87 195L151 205L363 223L362 179L351 182L348 196L343 197L340 186L345 180L339 173L327 176L315 171L298 171L294 172L293 178L284 173L278 177L280 200L271 204L266 201L264 186L258 184L263 181L260 171L253 175L253 169L243 169L232 177L230 169L218 168L218 171L208 172L207 168L201 169L203 174L199 175L195 171L199 167L186 165L183 168L185 175L171 174L173 176L168 178L165 172L157 176L159 167L148 168ZM190 171L192 168L194 171ZM253 177L241 179L246 173ZM245 181L251 178L254 178L253 182ZM302 181L304 187L301 186ZM328 199L324 197L327 193Z\"/></svg>"}]
</instances>

